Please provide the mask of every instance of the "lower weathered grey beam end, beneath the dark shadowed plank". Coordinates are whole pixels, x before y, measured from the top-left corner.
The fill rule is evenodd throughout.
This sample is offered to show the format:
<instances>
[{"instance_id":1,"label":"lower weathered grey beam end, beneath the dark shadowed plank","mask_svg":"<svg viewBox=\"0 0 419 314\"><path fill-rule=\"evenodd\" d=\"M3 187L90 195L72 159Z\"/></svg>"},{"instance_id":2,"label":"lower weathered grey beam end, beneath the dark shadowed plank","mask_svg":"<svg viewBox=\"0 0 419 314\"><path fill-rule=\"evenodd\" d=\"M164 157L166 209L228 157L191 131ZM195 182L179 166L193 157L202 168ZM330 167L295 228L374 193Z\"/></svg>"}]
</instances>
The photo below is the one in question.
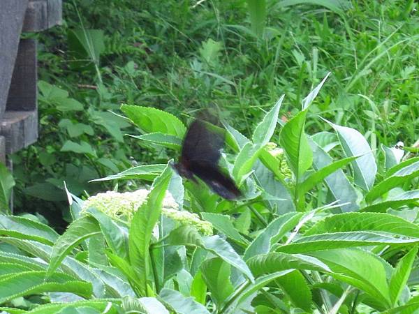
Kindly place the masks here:
<instances>
[{"instance_id":1,"label":"lower weathered grey beam end, beneath the dark shadowed plank","mask_svg":"<svg viewBox=\"0 0 419 314\"><path fill-rule=\"evenodd\" d=\"M6 111L1 119L0 135L6 138L6 154L33 144L38 138L38 112Z\"/></svg>"}]
</instances>

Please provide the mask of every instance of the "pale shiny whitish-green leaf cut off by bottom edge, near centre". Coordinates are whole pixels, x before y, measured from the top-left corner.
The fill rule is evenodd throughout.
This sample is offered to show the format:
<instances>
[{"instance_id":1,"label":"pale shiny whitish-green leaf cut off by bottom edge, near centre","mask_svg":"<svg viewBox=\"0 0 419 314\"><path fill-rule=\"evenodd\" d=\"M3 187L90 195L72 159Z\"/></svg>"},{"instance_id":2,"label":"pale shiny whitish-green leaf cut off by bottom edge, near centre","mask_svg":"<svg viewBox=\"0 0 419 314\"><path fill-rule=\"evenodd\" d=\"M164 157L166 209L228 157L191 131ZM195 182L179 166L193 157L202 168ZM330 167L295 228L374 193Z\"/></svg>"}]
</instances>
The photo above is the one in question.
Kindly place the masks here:
<instances>
[{"instance_id":1,"label":"pale shiny whitish-green leaf cut off by bottom edge, near centre","mask_svg":"<svg viewBox=\"0 0 419 314\"><path fill-rule=\"evenodd\" d=\"M180 292L164 288L160 292L160 297L166 307L178 314L210 314L207 308L191 297L184 297Z\"/></svg>"}]
</instances>

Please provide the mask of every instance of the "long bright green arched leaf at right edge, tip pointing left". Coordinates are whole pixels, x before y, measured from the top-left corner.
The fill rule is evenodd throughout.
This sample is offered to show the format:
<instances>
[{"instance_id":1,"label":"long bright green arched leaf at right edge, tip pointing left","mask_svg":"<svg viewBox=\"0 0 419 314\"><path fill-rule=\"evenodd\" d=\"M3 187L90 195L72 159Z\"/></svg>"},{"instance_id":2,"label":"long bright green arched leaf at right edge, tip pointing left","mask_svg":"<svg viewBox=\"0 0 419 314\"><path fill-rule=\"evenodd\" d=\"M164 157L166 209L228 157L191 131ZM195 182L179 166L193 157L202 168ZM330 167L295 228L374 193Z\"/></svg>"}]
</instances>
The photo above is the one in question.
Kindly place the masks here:
<instances>
[{"instance_id":1,"label":"long bright green arched leaf at right edge, tip pointing left","mask_svg":"<svg viewBox=\"0 0 419 314\"><path fill-rule=\"evenodd\" d=\"M304 236L328 232L377 231L398 236L418 237L419 226L398 216L378 213L346 213L328 216L304 233Z\"/></svg>"}]
</instances>

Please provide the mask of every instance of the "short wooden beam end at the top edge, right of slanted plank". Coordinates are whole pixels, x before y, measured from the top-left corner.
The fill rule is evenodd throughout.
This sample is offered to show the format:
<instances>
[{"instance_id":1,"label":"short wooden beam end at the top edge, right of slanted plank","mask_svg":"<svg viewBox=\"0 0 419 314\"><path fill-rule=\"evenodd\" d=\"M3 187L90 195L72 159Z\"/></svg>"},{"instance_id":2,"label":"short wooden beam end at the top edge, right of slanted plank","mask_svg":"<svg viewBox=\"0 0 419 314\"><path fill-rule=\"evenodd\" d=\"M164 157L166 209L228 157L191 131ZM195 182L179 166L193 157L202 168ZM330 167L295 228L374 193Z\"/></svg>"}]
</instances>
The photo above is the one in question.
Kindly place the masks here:
<instances>
[{"instance_id":1,"label":"short wooden beam end at the top edge, right of slanted plank","mask_svg":"<svg viewBox=\"0 0 419 314\"><path fill-rule=\"evenodd\" d=\"M61 22L61 0L30 0L22 31L43 31Z\"/></svg>"}]
</instances>

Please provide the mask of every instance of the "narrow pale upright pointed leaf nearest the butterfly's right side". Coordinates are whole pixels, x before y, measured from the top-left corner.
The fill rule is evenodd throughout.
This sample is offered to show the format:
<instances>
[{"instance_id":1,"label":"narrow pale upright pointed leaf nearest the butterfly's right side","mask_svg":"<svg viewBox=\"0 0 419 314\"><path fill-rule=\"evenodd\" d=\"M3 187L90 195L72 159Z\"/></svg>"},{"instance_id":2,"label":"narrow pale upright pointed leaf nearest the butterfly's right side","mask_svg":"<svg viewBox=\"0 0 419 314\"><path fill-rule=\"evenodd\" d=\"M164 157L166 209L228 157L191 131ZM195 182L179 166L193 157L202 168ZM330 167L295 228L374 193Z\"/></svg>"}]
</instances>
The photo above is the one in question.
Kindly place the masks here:
<instances>
[{"instance_id":1,"label":"narrow pale upright pointed leaf nearest the butterfly's right side","mask_svg":"<svg viewBox=\"0 0 419 314\"><path fill-rule=\"evenodd\" d=\"M256 126L252 137L254 144L265 146L265 144L270 141L272 135L274 135L282 100L284 100L284 95L279 98L274 107L272 107L272 109L265 114L263 120L258 124L258 126Z\"/></svg>"}]
</instances>

